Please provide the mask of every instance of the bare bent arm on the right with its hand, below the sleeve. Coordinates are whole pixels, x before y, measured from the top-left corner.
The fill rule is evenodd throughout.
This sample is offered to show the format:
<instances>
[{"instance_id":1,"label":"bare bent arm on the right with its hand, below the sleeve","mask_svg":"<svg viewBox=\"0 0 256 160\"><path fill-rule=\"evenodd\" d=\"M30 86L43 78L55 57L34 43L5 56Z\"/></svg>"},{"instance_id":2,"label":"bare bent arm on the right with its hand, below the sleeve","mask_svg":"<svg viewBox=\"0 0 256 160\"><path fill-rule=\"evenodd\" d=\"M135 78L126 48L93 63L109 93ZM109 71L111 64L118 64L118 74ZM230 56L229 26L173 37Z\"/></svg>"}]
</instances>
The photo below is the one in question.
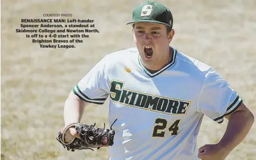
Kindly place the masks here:
<instances>
[{"instance_id":1,"label":"bare bent arm on the right with its hand, below the sleeve","mask_svg":"<svg viewBox=\"0 0 256 160\"><path fill-rule=\"evenodd\" d=\"M208 144L199 148L200 159L225 159L230 151L244 140L254 123L254 115L244 103L241 103L236 111L224 117L228 120L224 136L217 144Z\"/></svg>"}]
</instances>

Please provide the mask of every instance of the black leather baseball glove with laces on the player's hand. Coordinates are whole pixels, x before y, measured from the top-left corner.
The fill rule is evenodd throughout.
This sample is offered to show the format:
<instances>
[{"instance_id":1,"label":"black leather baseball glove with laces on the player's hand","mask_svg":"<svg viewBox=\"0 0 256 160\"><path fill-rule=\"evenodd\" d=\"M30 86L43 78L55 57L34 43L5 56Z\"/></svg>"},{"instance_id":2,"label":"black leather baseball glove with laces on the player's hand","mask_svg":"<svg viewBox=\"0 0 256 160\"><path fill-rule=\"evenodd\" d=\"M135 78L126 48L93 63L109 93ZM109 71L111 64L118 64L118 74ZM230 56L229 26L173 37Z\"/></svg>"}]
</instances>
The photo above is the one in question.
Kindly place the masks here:
<instances>
[{"instance_id":1,"label":"black leather baseball glove with laces on the player's hand","mask_svg":"<svg viewBox=\"0 0 256 160\"><path fill-rule=\"evenodd\" d=\"M93 150L93 148L100 149L103 146L112 146L114 144L115 136L115 130L112 129L112 125L110 129L105 129L105 124L104 128L95 128L95 125L96 123L94 123L94 125L83 123L69 124L58 132L56 139L64 146L64 148L71 151L83 149ZM70 127L75 128L80 138L73 137L70 142L65 142L65 133Z\"/></svg>"}]
</instances>

